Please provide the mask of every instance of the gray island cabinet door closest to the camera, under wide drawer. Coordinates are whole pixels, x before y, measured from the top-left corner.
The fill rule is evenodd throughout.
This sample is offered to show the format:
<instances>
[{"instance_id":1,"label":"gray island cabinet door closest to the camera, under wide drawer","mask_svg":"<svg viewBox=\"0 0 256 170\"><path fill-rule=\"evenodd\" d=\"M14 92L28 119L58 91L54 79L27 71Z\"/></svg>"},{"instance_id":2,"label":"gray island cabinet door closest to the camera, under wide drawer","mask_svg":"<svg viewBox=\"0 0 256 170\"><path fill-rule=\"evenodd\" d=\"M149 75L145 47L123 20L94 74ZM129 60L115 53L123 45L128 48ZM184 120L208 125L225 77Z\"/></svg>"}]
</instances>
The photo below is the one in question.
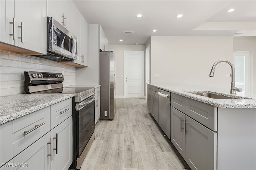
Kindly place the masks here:
<instances>
[{"instance_id":1,"label":"gray island cabinet door closest to the camera, under wide drawer","mask_svg":"<svg viewBox=\"0 0 256 170\"><path fill-rule=\"evenodd\" d=\"M217 133L186 117L186 162L192 170L217 169Z\"/></svg>"}]
</instances>

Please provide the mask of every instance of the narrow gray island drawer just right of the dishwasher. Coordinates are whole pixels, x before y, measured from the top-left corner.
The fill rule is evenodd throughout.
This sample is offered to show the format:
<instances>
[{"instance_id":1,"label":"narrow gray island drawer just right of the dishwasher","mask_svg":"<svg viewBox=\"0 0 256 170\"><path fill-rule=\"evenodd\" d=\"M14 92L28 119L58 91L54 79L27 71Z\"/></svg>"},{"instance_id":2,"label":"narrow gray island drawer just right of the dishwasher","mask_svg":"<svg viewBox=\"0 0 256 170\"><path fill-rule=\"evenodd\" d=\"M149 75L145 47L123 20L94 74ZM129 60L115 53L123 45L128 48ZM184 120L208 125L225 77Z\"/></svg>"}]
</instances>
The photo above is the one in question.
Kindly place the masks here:
<instances>
[{"instance_id":1,"label":"narrow gray island drawer just right of the dishwasher","mask_svg":"<svg viewBox=\"0 0 256 170\"><path fill-rule=\"evenodd\" d=\"M171 93L171 106L186 113L186 97Z\"/></svg>"}]
</instances>

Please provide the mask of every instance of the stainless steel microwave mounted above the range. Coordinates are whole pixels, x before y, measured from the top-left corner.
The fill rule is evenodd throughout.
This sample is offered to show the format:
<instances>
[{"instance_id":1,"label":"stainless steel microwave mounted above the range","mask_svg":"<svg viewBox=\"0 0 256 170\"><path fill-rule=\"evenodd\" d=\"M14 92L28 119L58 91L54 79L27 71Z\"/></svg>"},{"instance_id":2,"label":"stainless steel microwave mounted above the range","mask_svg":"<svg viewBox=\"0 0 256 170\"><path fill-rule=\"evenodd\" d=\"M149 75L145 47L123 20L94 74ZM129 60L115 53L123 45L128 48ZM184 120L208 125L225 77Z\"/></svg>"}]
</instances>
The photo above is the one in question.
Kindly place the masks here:
<instances>
[{"instance_id":1,"label":"stainless steel microwave mounted above the range","mask_svg":"<svg viewBox=\"0 0 256 170\"><path fill-rule=\"evenodd\" d=\"M38 55L54 61L71 61L77 58L77 38L62 24L47 17L47 55Z\"/></svg>"}]
</instances>

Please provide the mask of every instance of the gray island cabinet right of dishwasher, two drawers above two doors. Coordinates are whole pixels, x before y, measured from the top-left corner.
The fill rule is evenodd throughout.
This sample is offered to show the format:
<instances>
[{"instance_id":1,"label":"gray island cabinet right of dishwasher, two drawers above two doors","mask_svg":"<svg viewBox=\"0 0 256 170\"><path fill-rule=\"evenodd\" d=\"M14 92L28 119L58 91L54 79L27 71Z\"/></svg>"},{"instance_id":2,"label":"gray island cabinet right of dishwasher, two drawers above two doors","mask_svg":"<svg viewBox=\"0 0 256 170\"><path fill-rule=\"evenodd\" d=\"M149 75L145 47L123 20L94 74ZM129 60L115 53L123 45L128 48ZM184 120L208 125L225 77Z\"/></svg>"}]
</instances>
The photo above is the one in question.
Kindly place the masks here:
<instances>
[{"instance_id":1,"label":"gray island cabinet right of dishwasher, two drawers above two doors","mask_svg":"<svg viewBox=\"0 0 256 170\"><path fill-rule=\"evenodd\" d=\"M205 127L203 123L206 121L202 119L211 118L210 123L205 125L214 129L216 119L212 117L217 114L216 107L186 97L185 99L171 94L171 142L192 170L216 170L217 132ZM197 116L192 119L190 115Z\"/></svg>"}]
</instances>

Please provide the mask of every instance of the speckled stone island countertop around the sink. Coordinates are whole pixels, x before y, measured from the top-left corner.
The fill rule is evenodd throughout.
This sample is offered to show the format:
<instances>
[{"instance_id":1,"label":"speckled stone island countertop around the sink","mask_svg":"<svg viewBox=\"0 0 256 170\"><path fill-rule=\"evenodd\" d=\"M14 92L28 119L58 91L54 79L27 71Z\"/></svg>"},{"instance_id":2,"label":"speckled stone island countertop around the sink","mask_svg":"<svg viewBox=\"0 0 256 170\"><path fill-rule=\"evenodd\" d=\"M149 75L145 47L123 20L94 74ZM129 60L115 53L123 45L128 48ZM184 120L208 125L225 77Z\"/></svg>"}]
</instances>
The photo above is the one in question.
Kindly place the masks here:
<instances>
[{"instance_id":1,"label":"speckled stone island countertop around the sink","mask_svg":"<svg viewBox=\"0 0 256 170\"><path fill-rule=\"evenodd\" d=\"M247 92L245 94L241 94L240 92L237 92L236 95L230 95L229 94L230 89L218 89L218 88L204 87L204 86L198 86L198 85L157 84L157 83L149 83L148 85L152 85L154 87L158 87L159 89L163 89L171 93L176 93L178 95L182 95L190 99L201 101L209 105L213 105L220 108L256 108L255 92ZM240 99L212 99L209 97L203 97L200 95L188 93L188 91L189 92L215 92L214 94L217 94L217 95L219 94L219 95L235 97ZM252 98L252 99L243 99L244 97Z\"/></svg>"}]
</instances>

